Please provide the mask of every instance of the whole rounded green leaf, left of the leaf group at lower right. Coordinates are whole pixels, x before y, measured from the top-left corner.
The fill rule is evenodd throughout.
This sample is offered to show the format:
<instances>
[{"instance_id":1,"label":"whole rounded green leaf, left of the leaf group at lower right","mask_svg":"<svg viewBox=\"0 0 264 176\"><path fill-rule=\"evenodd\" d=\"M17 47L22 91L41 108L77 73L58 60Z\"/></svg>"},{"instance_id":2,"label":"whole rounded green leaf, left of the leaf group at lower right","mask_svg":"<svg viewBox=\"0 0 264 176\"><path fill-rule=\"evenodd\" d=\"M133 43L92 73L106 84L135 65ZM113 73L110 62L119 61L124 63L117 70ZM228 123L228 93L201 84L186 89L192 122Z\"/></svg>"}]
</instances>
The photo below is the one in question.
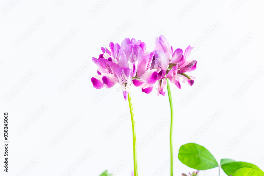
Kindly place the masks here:
<instances>
[{"instance_id":1,"label":"whole rounded green leaf, left of the leaf group at lower right","mask_svg":"<svg viewBox=\"0 0 264 176\"><path fill-rule=\"evenodd\" d=\"M206 170L218 166L214 156L206 148L195 143L182 145L178 158L183 164L197 170Z\"/></svg>"}]
</instances>

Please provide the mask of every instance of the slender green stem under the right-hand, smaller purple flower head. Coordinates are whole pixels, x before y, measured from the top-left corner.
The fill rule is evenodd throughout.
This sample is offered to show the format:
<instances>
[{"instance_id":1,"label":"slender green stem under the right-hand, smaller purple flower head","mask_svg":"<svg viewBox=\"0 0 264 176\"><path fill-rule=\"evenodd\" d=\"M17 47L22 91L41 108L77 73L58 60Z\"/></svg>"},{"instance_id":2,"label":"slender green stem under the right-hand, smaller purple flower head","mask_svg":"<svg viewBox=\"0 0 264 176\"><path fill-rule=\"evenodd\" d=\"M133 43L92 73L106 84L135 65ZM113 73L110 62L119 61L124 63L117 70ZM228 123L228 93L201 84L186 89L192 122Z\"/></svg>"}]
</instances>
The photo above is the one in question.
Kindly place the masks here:
<instances>
[{"instance_id":1,"label":"slender green stem under the right-hand, smaller purple flower head","mask_svg":"<svg viewBox=\"0 0 264 176\"><path fill-rule=\"evenodd\" d=\"M173 176L173 147L172 147L172 125L173 125L173 107L172 107L172 98L171 98L171 88L169 87L169 80L167 80L167 89L169 96L169 105L171 107L171 130L170 130L170 146L171 146L171 176Z\"/></svg>"}]
</instances>

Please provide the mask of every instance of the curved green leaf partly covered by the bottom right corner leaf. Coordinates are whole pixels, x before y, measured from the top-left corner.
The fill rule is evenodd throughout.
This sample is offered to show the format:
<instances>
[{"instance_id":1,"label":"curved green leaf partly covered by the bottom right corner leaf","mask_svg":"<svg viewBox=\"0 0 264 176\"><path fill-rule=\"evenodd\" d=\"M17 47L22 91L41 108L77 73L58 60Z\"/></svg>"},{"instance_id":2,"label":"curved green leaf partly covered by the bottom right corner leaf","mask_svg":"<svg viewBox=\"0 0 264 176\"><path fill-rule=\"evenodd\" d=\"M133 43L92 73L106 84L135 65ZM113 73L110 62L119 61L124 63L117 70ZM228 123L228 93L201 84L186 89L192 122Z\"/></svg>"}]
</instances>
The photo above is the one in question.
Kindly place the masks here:
<instances>
[{"instance_id":1,"label":"curved green leaf partly covered by the bottom right corner leaf","mask_svg":"<svg viewBox=\"0 0 264 176\"><path fill-rule=\"evenodd\" d=\"M251 163L246 163L246 162L233 162L233 163L227 163L222 165L222 169L224 170L224 172L227 175L231 175L233 174L235 171L237 171L238 169L241 168L251 168L251 169L255 169L258 172L260 172L261 174L264 175L264 172L262 170L260 170L260 168L258 168L256 165L251 164Z\"/></svg>"}]
</instances>

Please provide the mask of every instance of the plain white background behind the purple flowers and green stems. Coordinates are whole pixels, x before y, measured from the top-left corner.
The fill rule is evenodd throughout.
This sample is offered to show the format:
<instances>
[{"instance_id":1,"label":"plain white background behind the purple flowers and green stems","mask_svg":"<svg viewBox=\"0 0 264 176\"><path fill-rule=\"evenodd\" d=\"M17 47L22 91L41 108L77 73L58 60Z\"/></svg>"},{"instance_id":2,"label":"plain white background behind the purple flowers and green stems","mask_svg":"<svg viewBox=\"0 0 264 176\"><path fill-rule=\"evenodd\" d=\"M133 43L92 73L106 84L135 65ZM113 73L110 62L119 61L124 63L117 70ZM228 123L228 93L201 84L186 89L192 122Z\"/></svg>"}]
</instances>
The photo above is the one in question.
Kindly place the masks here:
<instances>
[{"instance_id":1,"label":"plain white background behind the purple flowers and green stems","mask_svg":"<svg viewBox=\"0 0 264 176\"><path fill-rule=\"evenodd\" d=\"M4 112L9 113L10 141L8 173L3 172L3 147L0 147L0 175L65 175L70 167L77 164L78 167L70 175L98 176L106 169L117 168L122 161L125 165L116 175L131 175L131 120L130 117L120 120L123 115L128 115L128 102L124 101L122 93L116 92L115 88L119 85L106 93L105 89L93 88L90 78L96 74L97 67L91 58L98 58L100 47L107 41L121 43L126 37L142 40L152 50L155 37L161 33L174 49L199 45L189 58L197 61L197 69L190 73L196 77L194 85L182 84L179 90L171 84L175 112L174 153L177 155L181 145L196 142L205 146L218 162L221 158L254 164L260 161L260 168L264 169L261 162L264 156L264 75L259 71L264 66L263 1L240 0L241 4L233 9L235 0L155 0L149 3L147 0L106 0L93 15L91 12L102 1L65 0L58 3L56 0L28 0L16 1L13 5L10 3L2 0L0 5L0 141ZM190 3L192 6L189 6ZM179 17L181 13L183 16ZM32 31L31 26L39 18L44 21L39 21ZM216 23L219 25L214 25ZM56 45L65 42L64 37L72 29L78 32L59 50L55 50L54 56L48 57ZM211 30L210 35L208 30ZM27 31L30 35L23 40ZM247 41L248 35L252 37L248 37L250 40ZM21 44L15 46L20 39L23 40ZM202 43L197 43L201 39L204 39ZM247 43L241 47L243 40ZM236 47L236 54L224 63L223 60ZM81 69L84 63L89 66ZM80 69L83 72L76 74ZM32 71L35 74L27 77ZM258 75L258 72L262 74ZM253 81L252 75L258 76L257 79ZM72 77L75 78L73 82L60 91ZM206 77L210 78L207 83L204 82ZM28 80L23 83L23 79ZM243 89L247 82L249 86ZM20 89L12 92L18 85ZM235 96L241 88L243 93ZM188 97L194 90L196 94ZM9 93L13 95L6 100ZM155 92L147 95L140 88L133 87L131 96L138 144L145 136L154 133L142 148L138 146L139 175L158 176L157 170L162 167L165 171L161 175L169 175L169 167L165 164L169 160L170 112L167 94L164 97L157 97ZM97 102L93 101L96 97ZM185 98L189 100L182 106ZM40 113L42 105L47 108L34 119L32 115ZM208 119L219 110L221 115L209 123ZM80 120L68 130L66 126L75 116ZM25 123L30 119L32 123L26 127ZM156 133L154 128L163 119L168 122ZM117 122L120 125L106 138L104 134ZM256 125L245 135L241 133L251 122ZM194 140L192 136L206 124L208 128ZM18 134L23 125L26 129ZM67 133L51 146L50 142L63 130ZM227 150L226 147L238 135L242 139ZM86 154L86 150L92 154L79 164L77 160ZM26 172L25 167L30 166L32 159L37 159L37 163ZM175 176L193 170L175 159ZM206 175L216 174L217 168ZM225 173L221 171L221 175Z\"/></svg>"}]
</instances>

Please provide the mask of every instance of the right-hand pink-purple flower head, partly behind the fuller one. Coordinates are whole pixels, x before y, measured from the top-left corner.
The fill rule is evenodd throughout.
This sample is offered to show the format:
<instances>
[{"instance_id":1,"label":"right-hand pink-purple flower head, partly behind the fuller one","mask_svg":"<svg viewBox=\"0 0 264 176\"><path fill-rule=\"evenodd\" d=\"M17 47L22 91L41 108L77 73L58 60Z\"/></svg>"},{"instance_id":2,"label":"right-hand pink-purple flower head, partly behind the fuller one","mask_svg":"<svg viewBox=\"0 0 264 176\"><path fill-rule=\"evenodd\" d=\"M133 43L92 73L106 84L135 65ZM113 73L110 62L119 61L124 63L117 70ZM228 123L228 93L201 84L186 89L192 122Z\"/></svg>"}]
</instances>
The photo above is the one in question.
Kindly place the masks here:
<instances>
[{"instance_id":1,"label":"right-hand pink-purple flower head, partly behind the fuller one","mask_svg":"<svg viewBox=\"0 0 264 176\"><path fill-rule=\"evenodd\" d=\"M151 69L157 69L156 72L158 72L157 95L165 95L164 88L166 88L167 82L164 79L169 79L179 89L181 88L181 82L188 83L191 86L194 84L193 79L195 77L185 74L196 69L197 62L195 60L187 60L192 49L192 47L188 46L184 53L180 48L173 52L172 46L163 35L157 37L154 49L155 54L150 66ZM143 92L150 93L153 90L153 85L148 85L147 83L139 84L138 81L133 81L135 86L141 86Z\"/></svg>"}]
</instances>

